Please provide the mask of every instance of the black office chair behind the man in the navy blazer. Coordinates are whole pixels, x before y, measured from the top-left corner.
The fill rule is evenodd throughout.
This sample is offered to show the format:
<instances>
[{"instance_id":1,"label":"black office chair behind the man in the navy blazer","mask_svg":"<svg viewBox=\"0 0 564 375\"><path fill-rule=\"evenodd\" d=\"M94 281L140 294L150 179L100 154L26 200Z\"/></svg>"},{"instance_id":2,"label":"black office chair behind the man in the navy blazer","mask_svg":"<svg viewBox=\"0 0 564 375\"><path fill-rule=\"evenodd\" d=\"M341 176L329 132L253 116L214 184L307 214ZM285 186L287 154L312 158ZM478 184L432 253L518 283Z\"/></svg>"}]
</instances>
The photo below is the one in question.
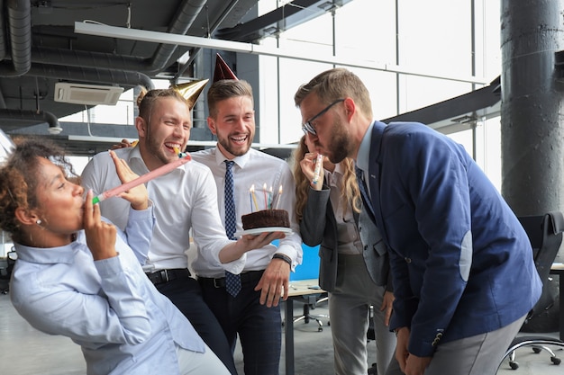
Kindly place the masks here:
<instances>
[{"instance_id":1,"label":"black office chair behind the man in the navy blazer","mask_svg":"<svg viewBox=\"0 0 564 375\"><path fill-rule=\"evenodd\" d=\"M554 262L559 252L560 244L562 243L564 217L561 212L553 211L545 215L524 216L518 219L531 241L534 263L542 281L541 299L539 299L525 319L523 327L526 327L532 319L545 315L546 311L554 305L554 297L551 295L549 288L549 274L550 266ZM562 314L562 311L560 311L560 314ZM505 353L502 362L505 361L505 358L509 357L509 367L513 370L518 369L519 363L515 361L515 351L523 346L532 346L534 353L541 353L541 351L550 353L550 362L555 365L560 364L561 360L547 344L564 347L564 342L551 337L541 335L523 335L515 337L509 345L509 349Z\"/></svg>"}]
</instances>

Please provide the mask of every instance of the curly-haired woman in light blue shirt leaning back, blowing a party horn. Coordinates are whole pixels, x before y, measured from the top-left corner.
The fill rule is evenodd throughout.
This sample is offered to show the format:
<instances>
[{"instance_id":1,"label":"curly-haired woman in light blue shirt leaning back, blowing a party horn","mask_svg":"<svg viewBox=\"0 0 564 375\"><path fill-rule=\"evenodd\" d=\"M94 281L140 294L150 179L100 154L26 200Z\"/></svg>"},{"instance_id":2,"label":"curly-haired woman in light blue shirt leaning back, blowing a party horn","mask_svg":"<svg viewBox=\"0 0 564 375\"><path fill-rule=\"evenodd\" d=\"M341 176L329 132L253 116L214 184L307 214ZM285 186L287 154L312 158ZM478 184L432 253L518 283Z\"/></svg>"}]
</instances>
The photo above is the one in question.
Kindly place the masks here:
<instances>
[{"instance_id":1,"label":"curly-haired woman in light blue shirt leaning back, blowing a party horn","mask_svg":"<svg viewBox=\"0 0 564 375\"><path fill-rule=\"evenodd\" d=\"M123 182L136 177L111 156ZM14 308L40 331L79 344L89 375L228 374L141 269L154 223L145 187L121 195L131 204L125 237L71 177L62 152L44 140L18 145L0 167L0 228L18 255Z\"/></svg>"}]
</instances>

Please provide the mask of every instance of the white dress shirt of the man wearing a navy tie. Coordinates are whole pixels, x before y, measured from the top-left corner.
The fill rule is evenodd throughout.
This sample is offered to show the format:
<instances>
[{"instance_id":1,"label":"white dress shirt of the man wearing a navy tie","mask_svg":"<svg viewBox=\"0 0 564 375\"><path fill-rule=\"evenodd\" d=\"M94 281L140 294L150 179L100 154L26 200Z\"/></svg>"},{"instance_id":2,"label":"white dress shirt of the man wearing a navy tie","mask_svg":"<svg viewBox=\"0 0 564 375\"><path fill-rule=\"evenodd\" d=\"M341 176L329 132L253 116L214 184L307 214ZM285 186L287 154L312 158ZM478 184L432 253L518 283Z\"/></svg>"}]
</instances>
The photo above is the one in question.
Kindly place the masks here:
<instances>
[{"instance_id":1,"label":"white dress shirt of the man wearing a navy tie","mask_svg":"<svg viewBox=\"0 0 564 375\"><path fill-rule=\"evenodd\" d=\"M198 151L190 154L192 158L204 165L207 165L214 174L215 192L218 197L219 214L222 222L225 222L225 156L217 147ZM272 259L272 255L286 254L292 259L292 270L297 264L302 263L302 238L299 236L299 226L294 215L294 204L296 201L296 187L294 177L289 166L284 160L275 156L270 156L263 152L250 148L243 156L232 159L233 181L235 184L235 210L237 218L237 231L243 230L241 216L252 211L278 208L287 210L290 217L290 228L292 234L287 234L286 238L279 241L278 246L268 245L260 249L251 250L243 254L241 258L231 263L214 264L205 259L205 249L198 248L198 255L192 267L198 276L204 277L223 277L224 271L241 273L247 271L259 271L267 268ZM254 184L255 200L250 195L250 187ZM264 186L266 184L267 194L265 199ZM282 186L282 194L278 190ZM270 187L272 195L269 197ZM279 202L278 202L279 200ZM269 204L268 202L271 201ZM217 210L217 208L216 208ZM224 229L223 229L224 230Z\"/></svg>"}]
</instances>

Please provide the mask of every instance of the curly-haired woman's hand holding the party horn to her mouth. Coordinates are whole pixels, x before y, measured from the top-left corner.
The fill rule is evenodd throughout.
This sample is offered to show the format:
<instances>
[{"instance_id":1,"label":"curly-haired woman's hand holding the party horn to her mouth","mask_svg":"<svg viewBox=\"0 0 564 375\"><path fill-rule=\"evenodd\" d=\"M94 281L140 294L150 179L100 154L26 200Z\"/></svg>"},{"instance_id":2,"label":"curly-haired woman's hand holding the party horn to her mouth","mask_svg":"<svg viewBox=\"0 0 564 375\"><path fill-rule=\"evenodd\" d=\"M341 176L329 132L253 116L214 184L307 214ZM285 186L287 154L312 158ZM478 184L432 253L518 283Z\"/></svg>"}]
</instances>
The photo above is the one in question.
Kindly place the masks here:
<instances>
[{"instance_id":1,"label":"curly-haired woman's hand holding the party horn to her mouth","mask_svg":"<svg viewBox=\"0 0 564 375\"><path fill-rule=\"evenodd\" d=\"M115 251L117 229L114 225L102 221L100 205L92 204L93 195L91 190L86 193L83 220L86 245L90 249L94 260L97 261L117 255Z\"/></svg>"}]
</instances>

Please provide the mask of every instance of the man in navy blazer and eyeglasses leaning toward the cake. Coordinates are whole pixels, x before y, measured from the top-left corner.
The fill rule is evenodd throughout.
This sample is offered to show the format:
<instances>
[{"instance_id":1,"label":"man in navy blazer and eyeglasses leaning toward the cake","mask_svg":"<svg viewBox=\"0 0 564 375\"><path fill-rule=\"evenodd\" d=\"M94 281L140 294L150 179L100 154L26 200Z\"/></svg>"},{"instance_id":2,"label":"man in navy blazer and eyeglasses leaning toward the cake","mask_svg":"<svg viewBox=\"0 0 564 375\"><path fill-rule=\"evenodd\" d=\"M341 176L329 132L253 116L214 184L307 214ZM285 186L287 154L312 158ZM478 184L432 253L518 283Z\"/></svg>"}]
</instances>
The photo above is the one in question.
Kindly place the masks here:
<instances>
[{"instance_id":1,"label":"man in navy blazer and eyeglasses leaning toward the cake","mask_svg":"<svg viewBox=\"0 0 564 375\"><path fill-rule=\"evenodd\" d=\"M373 121L366 86L346 69L315 76L295 103L317 152L355 159L389 247L400 369L387 374L496 373L541 295L529 238L496 188L450 138Z\"/></svg>"}]
</instances>

